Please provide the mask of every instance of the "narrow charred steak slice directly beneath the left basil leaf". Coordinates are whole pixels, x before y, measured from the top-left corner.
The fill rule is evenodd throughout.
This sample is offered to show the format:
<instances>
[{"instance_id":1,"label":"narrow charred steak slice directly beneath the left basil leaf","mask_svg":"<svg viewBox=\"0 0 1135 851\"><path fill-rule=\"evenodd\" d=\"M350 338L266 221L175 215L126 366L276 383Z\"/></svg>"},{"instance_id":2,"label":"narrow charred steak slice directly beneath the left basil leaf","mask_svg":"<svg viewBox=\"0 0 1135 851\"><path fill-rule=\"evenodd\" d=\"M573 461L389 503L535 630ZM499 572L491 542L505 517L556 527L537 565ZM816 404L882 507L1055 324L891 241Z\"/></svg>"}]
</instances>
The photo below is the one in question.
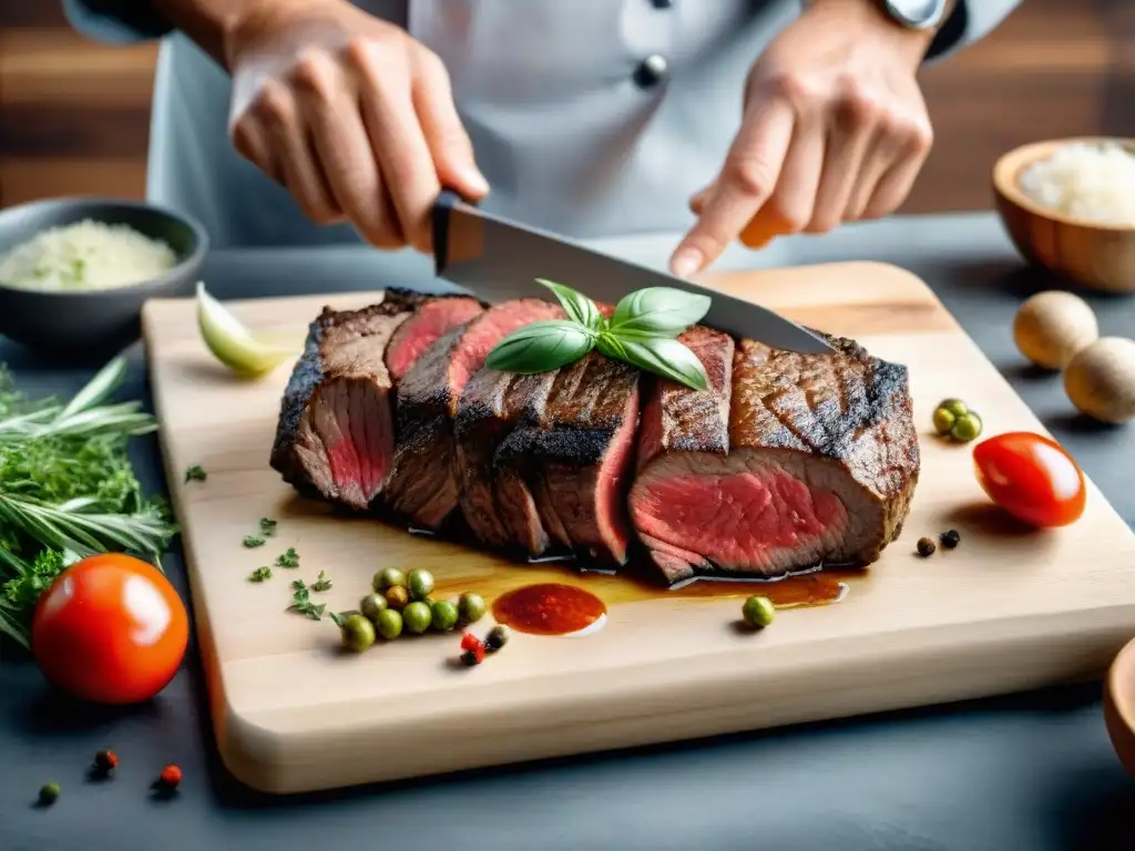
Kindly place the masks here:
<instances>
[{"instance_id":1,"label":"narrow charred steak slice directly beneath the left basil leaf","mask_svg":"<svg viewBox=\"0 0 1135 851\"><path fill-rule=\"evenodd\" d=\"M563 315L562 310L549 304L541 319ZM504 512L497 506L493 456L521 414L544 406L555 377L555 371L519 376L482 366L461 394L453 423L457 504L473 534L490 547L506 547L513 540Z\"/></svg>"}]
</instances>

